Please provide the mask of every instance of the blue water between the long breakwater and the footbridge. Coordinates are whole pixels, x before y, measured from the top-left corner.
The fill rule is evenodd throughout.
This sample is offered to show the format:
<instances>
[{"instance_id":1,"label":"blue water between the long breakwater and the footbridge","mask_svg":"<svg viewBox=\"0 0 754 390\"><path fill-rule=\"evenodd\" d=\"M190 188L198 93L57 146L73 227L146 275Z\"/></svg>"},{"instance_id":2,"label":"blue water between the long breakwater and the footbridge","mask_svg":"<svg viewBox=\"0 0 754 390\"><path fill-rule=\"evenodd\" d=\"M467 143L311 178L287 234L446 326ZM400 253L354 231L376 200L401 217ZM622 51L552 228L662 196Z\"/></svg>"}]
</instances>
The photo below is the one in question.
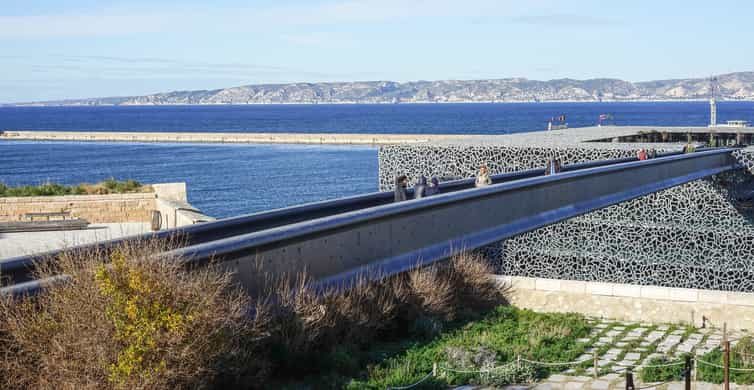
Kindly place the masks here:
<instances>
[{"instance_id":1,"label":"blue water between the long breakwater and the footbridge","mask_svg":"<svg viewBox=\"0 0 754 390\"><path fill-rule=\"evenodd\" d=\"M0 141L8 185L185 181L215 217L377 190L377 151L358 147Z\"/></svg>"}]
</instances>

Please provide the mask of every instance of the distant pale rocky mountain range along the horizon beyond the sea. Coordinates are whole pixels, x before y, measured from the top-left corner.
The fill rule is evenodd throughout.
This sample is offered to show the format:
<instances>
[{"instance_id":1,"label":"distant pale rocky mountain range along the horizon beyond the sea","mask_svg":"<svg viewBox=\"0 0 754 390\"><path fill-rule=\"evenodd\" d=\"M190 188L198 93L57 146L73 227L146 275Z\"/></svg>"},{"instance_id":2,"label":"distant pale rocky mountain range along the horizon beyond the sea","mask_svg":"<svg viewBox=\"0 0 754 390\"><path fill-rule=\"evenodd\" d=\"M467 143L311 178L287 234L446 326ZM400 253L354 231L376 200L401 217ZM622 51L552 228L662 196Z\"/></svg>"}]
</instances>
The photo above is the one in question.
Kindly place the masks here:
<instances>
[{"instance_id":1,"label":"distant pale rocky mountain range along the horizon beyond the sea","mask_svg":"<svg viewBox=\"0 0 754 390\"><path fill-rule=\"evenodd\" d=\"M754 72L718 76L720 99L754 100ZM365 81L246 85L146 96L74 99L16 105L168 105L270 103L472 103L535 101L700 100L708 78L632 83L618 79L549 81L525 78L444 81Z\"/></svg>"}]
</instances>

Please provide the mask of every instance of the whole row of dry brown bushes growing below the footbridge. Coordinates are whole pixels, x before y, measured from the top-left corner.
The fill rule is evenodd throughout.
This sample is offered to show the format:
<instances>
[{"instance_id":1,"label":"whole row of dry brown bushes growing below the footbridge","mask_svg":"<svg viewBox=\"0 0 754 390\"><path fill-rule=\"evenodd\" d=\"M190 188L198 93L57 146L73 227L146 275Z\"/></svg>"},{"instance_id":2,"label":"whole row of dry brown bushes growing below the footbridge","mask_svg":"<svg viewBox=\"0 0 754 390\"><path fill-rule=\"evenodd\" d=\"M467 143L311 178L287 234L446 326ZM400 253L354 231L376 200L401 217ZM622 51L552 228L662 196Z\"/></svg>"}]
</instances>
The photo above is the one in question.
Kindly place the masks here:
<instances>
[{"instance_id":1,"label":"whole row of dry brown bushes growing below the footbridge","mask_svg":"<svg viewBox=\"0 0 754 390\"><path fill-rule=\"evenodd\" d=\"M40 265L40 277L72 279L34 300L0 302L0 388L264 386L307 368L316 375L334 348L505 303L491 268L471 254L345 291L317 293L305 274L264 278L252 302L228 273L151 256L174 245L129 243Z\"/></svg>"}]
</instances>

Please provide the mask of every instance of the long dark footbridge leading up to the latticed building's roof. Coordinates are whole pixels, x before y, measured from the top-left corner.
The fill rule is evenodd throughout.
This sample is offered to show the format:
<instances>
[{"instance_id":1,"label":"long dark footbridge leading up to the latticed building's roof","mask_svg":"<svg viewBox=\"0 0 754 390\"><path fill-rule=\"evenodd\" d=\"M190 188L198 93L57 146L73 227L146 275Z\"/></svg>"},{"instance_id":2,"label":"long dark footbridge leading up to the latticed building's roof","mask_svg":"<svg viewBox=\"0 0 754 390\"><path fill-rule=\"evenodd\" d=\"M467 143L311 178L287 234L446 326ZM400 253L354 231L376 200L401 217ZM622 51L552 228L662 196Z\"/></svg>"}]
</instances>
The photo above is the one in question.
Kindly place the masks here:
<instances>
[{"instance_id":1,"label":"long dark footbridge leading up to the latticed building's roof","mask_svg":"<svg viewBox=\"0 0 754 390\"><path fill-rule=\"evenodd\" d=\"M619 158L564 166L554 175L530 169L441 183L437 195L394 202L378 192L323 201L138 238L180 234L186 246L169 253L191 264L219 261L254 292L254 263L268 272L306 269L322 287L345 286L364 275L385 276L447 259L582 214L739 169L735 148L670 152L638 161ZM409 190L409 194L410 194ZM130 238L133 239L133 238ZM119 240L97 244L117 245ZM91 246L90 246L91 247ZM86 247L74 248L86 249ZM39 291L35 261L56 253L0 260L3 294ZM47 260L45 260L47 259Z\"/></svg>"}]
</instances>

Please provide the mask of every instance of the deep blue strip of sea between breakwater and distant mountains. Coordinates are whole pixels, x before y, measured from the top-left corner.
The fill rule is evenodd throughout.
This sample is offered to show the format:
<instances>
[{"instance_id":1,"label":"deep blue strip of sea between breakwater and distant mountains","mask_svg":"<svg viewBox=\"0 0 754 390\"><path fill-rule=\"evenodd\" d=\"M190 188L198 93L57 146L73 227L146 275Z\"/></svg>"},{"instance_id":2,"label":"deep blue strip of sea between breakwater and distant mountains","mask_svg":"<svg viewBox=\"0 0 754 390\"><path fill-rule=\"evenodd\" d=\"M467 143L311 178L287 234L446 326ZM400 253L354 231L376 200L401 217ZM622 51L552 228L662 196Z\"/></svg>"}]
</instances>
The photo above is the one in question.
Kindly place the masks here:
<instances>
[{"instance_id":1,"label":"deep blue strip of sea between breakwater and distant mountains","mask_svg":"<svg viewBox=\"0 0 754 390\"><path fill-rule=\"evenodd\" d=\"M618 125L704 126L709 104L521 103L0 107L0 130L227 131L293 133L474 133L545 129L565 114L571 127L613 114ZM721 102L718 120L754 122L754 102Z\"/></svg>"}]
</instances>

